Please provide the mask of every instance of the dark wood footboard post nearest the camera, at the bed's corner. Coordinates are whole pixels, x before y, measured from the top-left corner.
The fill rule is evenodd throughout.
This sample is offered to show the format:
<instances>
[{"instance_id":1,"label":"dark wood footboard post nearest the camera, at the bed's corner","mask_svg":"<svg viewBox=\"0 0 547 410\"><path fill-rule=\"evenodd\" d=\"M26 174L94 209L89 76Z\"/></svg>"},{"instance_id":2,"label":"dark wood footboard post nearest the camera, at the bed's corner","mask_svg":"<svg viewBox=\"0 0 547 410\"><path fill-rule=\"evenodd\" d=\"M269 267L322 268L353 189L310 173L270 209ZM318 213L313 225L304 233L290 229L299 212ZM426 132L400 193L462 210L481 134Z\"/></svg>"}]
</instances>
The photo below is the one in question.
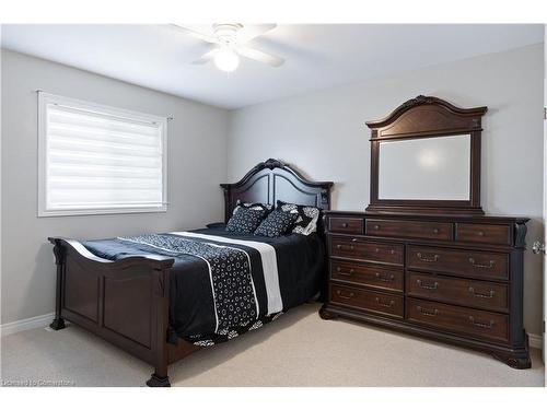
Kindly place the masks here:
<instances>
[{"instance_id":1,"label":"dark wood footboard post nearest the camera, at the bed's corner","mask_svg":"<svg viewBox=\"0 0 547 410\"><path fill-rule=\"evenodd\" d=\"M153 278L158 284L153 296L153 317L155 318L155 331L152 332L155 338L153 341L154 351L154 373L147 382L149 387L171 387L167 375L168 351L167 351L167 330L170 318L170 270L163 268L154 270Z\"/></svg>"}]
</instances>

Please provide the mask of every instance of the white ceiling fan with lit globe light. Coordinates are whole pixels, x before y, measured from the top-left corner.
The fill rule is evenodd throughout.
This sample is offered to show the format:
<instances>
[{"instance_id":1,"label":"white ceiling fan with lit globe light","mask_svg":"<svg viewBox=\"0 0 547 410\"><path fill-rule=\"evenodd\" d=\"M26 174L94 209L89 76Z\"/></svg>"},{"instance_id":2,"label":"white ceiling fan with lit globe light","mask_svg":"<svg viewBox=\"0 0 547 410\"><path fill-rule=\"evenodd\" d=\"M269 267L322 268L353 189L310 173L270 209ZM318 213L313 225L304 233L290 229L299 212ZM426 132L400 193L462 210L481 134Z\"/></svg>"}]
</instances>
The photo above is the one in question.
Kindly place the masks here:
<instances>
[{"instance_id":1,"label":"white ceiling fan with lit globe light","mask_svg":"<svg viewBox=\"0 0 547 410\"><path fill-rule=\"evenodd\" d=\"M212 60L219 70L231 72L240 66L240 57L264 62L271 67L279 67L284 62L284 59L281 57L245 45L251 39L274 30L277 24L258 24L254 26L244 26L240 23L213 24L211 34L196 32L176 24L172 24L171 26L214 45L212 50L193 61L193 65L205 65Z\"/></svg>"}]
</instances>

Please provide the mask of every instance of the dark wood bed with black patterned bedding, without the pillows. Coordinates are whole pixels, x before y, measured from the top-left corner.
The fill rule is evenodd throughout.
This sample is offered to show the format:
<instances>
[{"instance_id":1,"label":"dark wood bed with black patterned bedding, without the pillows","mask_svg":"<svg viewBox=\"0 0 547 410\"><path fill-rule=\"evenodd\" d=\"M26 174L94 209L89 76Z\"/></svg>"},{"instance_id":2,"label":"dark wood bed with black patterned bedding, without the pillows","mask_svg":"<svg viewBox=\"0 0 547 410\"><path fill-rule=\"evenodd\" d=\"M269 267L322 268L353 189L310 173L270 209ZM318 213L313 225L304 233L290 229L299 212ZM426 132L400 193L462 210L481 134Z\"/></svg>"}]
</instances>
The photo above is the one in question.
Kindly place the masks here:
<instances>
[{"instance_id":1,"label":"dark wood bed with black patterned bedding, without the pillows","mask_svg":"<svg viewBox=\"0 0 547 410\"><path fill-rule=\"evenodd\" d=\"M240 181L221 185L225 222L238 200L327 210L331 186L270 159ZM307 236L275 238L226 232L221 223L97 241L50 237L57 265L50 327L60 330L69 320L85 328L150 363L148 386L167 387L171 363L258 329L323 290L322 223Z\"/></svg>"}]
</instances>

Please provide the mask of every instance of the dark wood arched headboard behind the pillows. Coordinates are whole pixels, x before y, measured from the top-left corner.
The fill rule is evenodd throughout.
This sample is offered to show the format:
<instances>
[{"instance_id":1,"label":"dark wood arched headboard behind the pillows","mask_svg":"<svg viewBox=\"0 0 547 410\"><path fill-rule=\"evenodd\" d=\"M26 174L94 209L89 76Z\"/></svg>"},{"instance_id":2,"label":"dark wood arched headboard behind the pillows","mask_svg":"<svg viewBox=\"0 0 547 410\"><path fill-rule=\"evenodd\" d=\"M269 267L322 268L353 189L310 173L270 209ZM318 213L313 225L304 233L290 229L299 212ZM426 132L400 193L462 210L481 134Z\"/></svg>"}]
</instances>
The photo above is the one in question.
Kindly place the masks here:
<instances>
[{"instance_id":1,"label":"dark wood arched headboard behind the pillows","mask_svg":"<svg viewBox=\"0 0 547 410\"><path fill-rule=\"evenodd\" d=\"M333 183L305 179L291 165L269 159L253 167L240 181L221 184L224 189L225 221L230 219L237 199L243 202L271 203L278 200L330 209Z\"/></svg>"}]
</instances>

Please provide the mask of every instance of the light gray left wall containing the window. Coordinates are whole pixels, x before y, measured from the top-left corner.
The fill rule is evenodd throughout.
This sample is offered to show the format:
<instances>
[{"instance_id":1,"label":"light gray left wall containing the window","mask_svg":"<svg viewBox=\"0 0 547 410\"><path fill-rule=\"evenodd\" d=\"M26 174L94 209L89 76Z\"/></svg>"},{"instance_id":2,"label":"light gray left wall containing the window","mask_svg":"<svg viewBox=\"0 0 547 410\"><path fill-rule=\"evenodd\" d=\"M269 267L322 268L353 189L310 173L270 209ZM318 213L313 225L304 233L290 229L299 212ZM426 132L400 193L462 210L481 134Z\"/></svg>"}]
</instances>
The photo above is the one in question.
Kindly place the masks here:
<instances>
[{"instance_id":1,"label":"light gray left wall containing the window","mask_svg":"<svg viewBox=\"0 0 547 410\"><path fill-rule=\"evenodd\" d=\"M226 176L226 110L13 51L2 50L1 57L2 324L54 311L55 267L47 236L109 237L191 229L223 219L219 183ZM168 125L168 211L36 218L36 89L173 115Z\"/></svg>"}]
</instances>

